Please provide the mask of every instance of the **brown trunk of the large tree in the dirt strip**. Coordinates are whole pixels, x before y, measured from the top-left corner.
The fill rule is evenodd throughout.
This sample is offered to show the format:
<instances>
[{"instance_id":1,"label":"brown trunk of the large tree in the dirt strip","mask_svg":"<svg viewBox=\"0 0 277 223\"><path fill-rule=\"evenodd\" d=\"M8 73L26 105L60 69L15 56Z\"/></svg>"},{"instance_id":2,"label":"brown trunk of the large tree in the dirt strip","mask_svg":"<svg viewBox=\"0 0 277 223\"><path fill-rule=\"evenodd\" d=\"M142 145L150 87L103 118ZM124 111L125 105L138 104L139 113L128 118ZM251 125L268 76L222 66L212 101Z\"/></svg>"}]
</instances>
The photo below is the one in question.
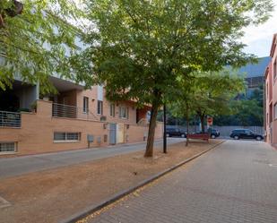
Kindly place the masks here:
<instances>
[{"instance_id":1,"label":"brown trunk of the large tree in the dirt strip","mask_svg":"<svg viewBox=\"0 0 277 223\"><path fill-rule=\"evenodd\" d=\"M154 146L155 127L156 127L156 119L158 115L158 108L159 108L159 105L157 103L152 104L147 144L146 144L146 150L144 153L145 158L153 156L153 146Z\"/></svg>"}]
</instances>

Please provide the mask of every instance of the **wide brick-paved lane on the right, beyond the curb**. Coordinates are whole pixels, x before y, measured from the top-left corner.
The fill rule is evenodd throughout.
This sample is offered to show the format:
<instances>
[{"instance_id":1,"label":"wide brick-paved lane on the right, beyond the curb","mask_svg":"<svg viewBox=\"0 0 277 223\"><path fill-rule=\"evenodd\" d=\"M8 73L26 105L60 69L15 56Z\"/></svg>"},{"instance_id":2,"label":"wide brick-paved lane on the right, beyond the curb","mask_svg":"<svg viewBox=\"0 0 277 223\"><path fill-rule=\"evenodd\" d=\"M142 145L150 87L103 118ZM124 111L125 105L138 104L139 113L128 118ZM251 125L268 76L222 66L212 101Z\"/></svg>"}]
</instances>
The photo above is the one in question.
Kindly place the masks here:
<instances>
[{"instance_id":1,"label":"wide brick-paved lane on the right, beyond the curb","mask_svg":"<svg viewBox=\"0 0 277 223\"><path fill-rule=\"evenodd\" d=\"M277 151L228 141L90 223L276 223Z\"/></svg>"}]
</instances>

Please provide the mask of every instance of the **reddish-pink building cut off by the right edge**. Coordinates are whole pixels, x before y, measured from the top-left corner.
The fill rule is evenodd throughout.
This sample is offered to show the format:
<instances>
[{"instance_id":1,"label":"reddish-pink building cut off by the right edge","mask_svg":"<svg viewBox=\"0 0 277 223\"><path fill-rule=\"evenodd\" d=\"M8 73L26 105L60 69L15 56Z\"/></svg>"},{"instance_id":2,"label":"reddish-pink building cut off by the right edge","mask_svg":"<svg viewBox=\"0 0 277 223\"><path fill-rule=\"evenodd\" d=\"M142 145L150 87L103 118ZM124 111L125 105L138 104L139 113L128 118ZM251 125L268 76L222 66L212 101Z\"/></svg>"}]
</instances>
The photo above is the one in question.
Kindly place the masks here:
<instances>
[{"instance_id":1,"label":"reddish-pink building cut off by the right edge","mask_svg":"<svg viewBox=\"0 0 277 223\"><path fill-rule=\"evenodd\" d=\"M265 141L277 147L277 34L273 35L273 44L264 79L264 133Z\"/></svg>"}]
</instances>

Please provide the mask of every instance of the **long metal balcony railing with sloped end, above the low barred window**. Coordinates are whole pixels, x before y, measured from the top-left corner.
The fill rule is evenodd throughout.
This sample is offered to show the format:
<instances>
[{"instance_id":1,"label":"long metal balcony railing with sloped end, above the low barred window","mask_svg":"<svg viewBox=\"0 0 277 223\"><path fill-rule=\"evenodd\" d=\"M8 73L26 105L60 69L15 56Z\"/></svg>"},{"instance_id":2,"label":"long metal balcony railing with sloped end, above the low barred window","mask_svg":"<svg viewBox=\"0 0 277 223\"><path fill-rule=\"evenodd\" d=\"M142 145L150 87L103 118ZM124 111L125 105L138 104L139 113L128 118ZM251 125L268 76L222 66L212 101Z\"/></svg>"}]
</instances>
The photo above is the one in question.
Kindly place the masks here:
<instances>
[{"instance_id":1,"label":"long metal balcony railing with sloped end, above the low barred window","mask_svg":"<svg viewBox=\"0 0 277 223\"><path fill-rule=\"evenodd\" d=\"M63 104L53 103L52 116L54 117L67 117L67 118L78 118L86 120L98 120L90 110L84 110L83 107L74 107Z\"/></svg>"}]
</instances>

